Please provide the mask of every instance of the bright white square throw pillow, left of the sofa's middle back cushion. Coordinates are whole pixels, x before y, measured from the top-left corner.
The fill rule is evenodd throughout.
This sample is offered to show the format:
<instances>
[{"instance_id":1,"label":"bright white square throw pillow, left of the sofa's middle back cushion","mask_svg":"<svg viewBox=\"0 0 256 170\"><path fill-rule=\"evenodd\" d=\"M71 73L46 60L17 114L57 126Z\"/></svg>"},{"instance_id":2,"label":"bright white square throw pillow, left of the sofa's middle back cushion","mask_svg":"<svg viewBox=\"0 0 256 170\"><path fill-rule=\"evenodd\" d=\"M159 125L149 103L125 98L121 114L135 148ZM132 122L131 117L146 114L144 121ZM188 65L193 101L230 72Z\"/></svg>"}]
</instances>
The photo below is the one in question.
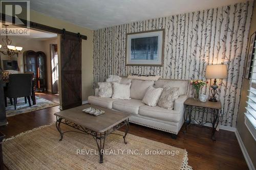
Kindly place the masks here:
<instances>
[{"instance_id":1,"label":"bright white square throw pillow, left of the sofa's middle back cushion","mask_svg":"<svg viewBox=\"0 0 256 170\"><path fill-rule=\"evenodd\" d=\"M131 83L129 84L119 84L113 82L113 99L122 99L122 100L129 100L130 98L130 87Z\"/></svg>"}]
</instances>

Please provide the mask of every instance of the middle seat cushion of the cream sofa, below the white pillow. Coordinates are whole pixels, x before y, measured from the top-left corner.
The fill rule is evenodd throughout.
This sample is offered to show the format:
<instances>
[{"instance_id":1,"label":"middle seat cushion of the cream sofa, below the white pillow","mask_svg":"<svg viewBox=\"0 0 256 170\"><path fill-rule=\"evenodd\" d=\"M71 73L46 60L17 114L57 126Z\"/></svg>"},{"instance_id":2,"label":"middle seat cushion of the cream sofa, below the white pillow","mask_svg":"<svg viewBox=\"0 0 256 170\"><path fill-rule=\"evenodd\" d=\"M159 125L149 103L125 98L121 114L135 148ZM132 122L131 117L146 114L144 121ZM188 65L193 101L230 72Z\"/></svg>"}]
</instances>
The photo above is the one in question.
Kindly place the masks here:
<instances>
[{"instance_id":1,"label":"middle seat cushion of the cream sofa, below the white pillow","mask_svg":"<svg viewBox=\"0 0 256 170\"><path fill-rule=\"evenodd\" d=\"M116 100L113 102L113 109L123 111L126 113L138 114L139 107L145 104L141 100Z\"/></svg>"}]
</instances>

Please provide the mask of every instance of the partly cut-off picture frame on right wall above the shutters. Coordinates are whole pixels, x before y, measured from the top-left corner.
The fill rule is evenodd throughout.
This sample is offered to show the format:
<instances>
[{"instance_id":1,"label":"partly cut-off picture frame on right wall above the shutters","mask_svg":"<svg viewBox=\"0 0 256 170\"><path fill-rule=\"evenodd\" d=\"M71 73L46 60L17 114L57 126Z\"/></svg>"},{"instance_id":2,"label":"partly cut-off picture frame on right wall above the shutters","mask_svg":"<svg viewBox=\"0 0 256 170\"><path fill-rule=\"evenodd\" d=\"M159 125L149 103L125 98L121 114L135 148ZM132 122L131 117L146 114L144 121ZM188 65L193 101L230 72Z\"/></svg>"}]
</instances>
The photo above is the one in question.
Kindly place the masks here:
<instances>
[{"instance_id":1,"label":"partly cut-off picture frame on right wall above the shutters","mask_svg":"<svg viewBox=\"0 0 256 170\"><path fill-rule=\"evenodd\" d=\"M245 67L245 75L244 78L245 79L249 79L251 77L251 70L252 70L252 64L253 64L253 54L255 52L255 41L256 41L256 32L254 32L251 37L250 37L250 41L249 41L249 50L248 50L248 54L247 54L247 62L246 62L246 67Z\"/></svg>"}]
</instances>

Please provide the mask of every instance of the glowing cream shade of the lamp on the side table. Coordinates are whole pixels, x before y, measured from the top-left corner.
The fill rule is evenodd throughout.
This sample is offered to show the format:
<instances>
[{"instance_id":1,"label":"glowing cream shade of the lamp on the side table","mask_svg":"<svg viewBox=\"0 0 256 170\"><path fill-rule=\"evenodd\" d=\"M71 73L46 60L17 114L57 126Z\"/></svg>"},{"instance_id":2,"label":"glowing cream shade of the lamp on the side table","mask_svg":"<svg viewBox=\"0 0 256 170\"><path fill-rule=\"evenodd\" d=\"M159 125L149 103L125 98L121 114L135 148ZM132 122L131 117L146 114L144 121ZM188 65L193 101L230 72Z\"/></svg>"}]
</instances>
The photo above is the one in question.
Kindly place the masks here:
<instances>
[{"instance_id":1,"label":"glowing cream shade of the lamp on the side table","mask_svg":"<svg viewBox=\"0 0 256 170\"><path fill-rule=\"evenodd\" d=\"M227 65L207 65L205 78L208 79L226 79L227 78Z\"/></svg>"}]
</instances>

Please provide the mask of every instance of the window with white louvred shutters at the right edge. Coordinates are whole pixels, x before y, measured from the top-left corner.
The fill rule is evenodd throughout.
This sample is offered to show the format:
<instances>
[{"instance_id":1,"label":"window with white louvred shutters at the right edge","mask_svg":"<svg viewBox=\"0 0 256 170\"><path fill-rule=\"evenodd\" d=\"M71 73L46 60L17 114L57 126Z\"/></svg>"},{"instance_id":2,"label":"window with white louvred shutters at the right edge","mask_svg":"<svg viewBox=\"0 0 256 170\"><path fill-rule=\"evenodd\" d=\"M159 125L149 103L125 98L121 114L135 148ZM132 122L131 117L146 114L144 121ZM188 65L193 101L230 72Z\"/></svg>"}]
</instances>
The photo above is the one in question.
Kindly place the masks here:
<instances>
[{"instance_id":1,"label":"window with white louvred shutters at the right edge","mask_svg":"<svg viewBox=\"0 0 256 170\"><path fill-rule=\"evenodd\" d=\"M245 113L245 125L249 129L250 133L256 140L256 41L253 46L253 64L250 78L250 88L246 113Z\"/></svg>"}]
</instances>

